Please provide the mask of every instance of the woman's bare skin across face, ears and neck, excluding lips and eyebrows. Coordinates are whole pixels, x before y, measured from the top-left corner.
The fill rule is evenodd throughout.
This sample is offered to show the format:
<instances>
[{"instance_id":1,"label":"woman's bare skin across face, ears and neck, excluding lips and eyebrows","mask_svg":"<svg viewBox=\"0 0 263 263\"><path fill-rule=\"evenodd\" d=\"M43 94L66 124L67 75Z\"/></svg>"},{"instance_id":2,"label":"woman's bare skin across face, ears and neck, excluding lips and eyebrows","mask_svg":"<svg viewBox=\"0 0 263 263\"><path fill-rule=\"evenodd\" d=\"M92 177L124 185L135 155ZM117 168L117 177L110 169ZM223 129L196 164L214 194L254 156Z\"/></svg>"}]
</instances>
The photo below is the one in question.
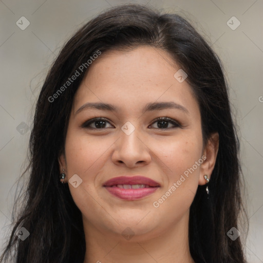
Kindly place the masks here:
<instances>
[{"instance_id":1,"label":"woman's bare skin across face, ears and neck, excluding lips and eyebrows","mask_svg":"<svg viewBox=\"0 0 263 263\"><path fill-rule=\"evenodd\" d=\"M82 179L76 188L69 183L69 189L82 212L84 263L194 262L188 239L190 205L198 185L205 184L204 175L210 179L219 138L215 133L204 145L197 100L186 81L175 79L178 69L161 49L108 51L90 65L74 97L65 155L59 162L61 172L65 170L64 182L74 174ZM108 103L117 111L81 110L88 102ZM143 112L146 104L159 102L180 106ZM87 124L100 117L106 121ZM159 117L172 122L156 121ZM135 128L130 135L121 129L126 122ZM202 156L205 161L155 208L154 201ZM139 200L123 200L103 187L110 178L122 175L152 178L160 187ZM128 238L124 230L131 234Z\"/></svg>"}]
</instances>

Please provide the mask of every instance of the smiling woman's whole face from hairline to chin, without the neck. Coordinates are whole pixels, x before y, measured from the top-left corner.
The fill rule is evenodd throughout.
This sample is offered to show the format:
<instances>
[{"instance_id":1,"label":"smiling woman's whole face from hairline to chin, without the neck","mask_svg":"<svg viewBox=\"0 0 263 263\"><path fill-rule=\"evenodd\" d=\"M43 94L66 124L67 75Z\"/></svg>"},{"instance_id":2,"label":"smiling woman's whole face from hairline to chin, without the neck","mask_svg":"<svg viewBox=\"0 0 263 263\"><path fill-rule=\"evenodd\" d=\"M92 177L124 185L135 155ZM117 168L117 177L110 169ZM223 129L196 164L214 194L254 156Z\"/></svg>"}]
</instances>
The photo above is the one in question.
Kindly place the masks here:
<instances>
[{"instance_id":1,"label":"smiling woman's whole face from hairline to chin, without the neck","mask_svg":"<svg viewBox=\"0 0 263 263\"><path fill-rule=\"evenodd\" d=\"M174 77L180 68L152 47L102 53L89 67L60 157L84 228L153 238L186 222L213 167L204 160L198 103L189 84ZM88 122L94 118L103 120ZM116 177L124 178L106 183Z\"/></svg>"}]
</instances>

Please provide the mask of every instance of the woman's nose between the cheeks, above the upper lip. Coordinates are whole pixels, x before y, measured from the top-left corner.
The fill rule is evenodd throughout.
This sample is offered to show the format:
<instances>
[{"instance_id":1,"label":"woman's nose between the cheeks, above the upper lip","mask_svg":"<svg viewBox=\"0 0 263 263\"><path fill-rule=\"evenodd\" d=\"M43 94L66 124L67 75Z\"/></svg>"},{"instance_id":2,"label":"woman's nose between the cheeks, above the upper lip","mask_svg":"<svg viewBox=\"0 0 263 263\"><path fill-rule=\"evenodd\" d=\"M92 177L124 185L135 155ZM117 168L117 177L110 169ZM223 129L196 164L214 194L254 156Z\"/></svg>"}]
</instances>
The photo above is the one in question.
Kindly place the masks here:
<instances>
[{"instance_id":1,"label":"woman's nose between the cheeks, above the upper lip","mask_svg":"<svg viewBox=\"0 0 263 263\"><path fill-rule=\"evenodd\" d=\"M125 134L120 131L120 138L115 143L114 153L112 154L112 162L117 165L125 165L127 167L144 166L151 162L151 150L145 143L145 138L134 130L132 134Z\"/></svg>"}]
</instances>

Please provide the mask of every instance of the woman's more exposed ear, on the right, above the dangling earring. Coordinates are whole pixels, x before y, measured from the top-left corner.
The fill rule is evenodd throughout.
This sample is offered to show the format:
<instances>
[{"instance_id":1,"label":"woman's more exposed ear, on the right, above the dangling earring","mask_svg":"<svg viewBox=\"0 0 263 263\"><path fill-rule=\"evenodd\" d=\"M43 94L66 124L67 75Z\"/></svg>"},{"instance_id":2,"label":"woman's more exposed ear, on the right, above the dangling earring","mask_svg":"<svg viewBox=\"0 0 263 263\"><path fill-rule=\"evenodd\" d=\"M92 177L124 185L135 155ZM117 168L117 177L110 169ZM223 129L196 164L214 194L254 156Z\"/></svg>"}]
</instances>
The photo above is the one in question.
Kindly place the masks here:
<instances>
[{"instance_id":1,"label":"woman's more exposed ear, on the right, above the dangling earring","mask_svg":"<svg viewBox=\"0 0 263 263\"><path fill-rule=\"evenodd\" d=\"M209 180L211 174L214 170L216 157L219 148L219 134L213 133L209 137L208 143L206 143L203 149L203 156L206 156L206 159L200 165L200 175L199 175L199 185L204 185L206 183L204 175L207 175Z\"/></svg>"}]
</instances>

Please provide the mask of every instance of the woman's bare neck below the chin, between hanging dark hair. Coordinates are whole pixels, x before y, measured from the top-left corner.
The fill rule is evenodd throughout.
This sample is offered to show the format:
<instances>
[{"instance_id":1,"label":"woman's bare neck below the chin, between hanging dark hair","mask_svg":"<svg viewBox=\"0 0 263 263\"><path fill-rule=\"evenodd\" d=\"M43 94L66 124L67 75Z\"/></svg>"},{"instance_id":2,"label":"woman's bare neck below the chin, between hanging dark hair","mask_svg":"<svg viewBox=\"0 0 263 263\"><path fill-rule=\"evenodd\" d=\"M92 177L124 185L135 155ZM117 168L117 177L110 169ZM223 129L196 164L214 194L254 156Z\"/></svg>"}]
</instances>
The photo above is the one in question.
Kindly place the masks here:
<instances>
[{"instance_id":1,"label":"woman's bare neck below the chin, between hanging dark hair","mask_svg":"<svg viewBox=\"0 0 263 263\"><path fill-rule=\"evenodd\" d=\"M84 263L194 263L188 239L189 212L169 229L153 230L150 235L122 235L101 232L83 219L86 253ZM171 225L170 225L171 226Z\"/></svg>"}]
</instances>

